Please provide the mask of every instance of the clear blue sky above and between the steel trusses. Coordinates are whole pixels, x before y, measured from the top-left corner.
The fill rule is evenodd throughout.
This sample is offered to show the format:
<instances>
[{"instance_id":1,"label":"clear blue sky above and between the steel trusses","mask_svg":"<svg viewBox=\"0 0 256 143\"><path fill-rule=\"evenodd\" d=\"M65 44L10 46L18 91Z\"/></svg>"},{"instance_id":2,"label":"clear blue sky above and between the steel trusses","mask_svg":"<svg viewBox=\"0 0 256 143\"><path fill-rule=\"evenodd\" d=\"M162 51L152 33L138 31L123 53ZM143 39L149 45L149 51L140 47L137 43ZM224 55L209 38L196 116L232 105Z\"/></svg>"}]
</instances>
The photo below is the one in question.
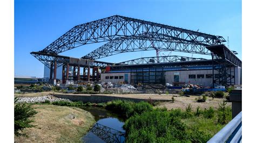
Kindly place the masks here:
<instances>
[{"instance_id":1,"label":"clear blue sky above and between the steel trusses","mask_svg":"<svg viewBox=\"0 0 256 143\"><path fill-rule=\"evenodd\" d=\"M112 15L194 31L199 29L199 32L221 35L226 40L229 37L230 48L237 51L241 59L241 1L15 0L15 75L43 77L43 63L30 52L45 48L73 26ZM60 55L80 58L103 44L81 46ZM192 56L178 52L172 55ZM156 56L156 52L124 53L100 60L120 62L142 56ZM193 57L210 59L205 55L194 54Z\"/></svg>"}]
</instances>

